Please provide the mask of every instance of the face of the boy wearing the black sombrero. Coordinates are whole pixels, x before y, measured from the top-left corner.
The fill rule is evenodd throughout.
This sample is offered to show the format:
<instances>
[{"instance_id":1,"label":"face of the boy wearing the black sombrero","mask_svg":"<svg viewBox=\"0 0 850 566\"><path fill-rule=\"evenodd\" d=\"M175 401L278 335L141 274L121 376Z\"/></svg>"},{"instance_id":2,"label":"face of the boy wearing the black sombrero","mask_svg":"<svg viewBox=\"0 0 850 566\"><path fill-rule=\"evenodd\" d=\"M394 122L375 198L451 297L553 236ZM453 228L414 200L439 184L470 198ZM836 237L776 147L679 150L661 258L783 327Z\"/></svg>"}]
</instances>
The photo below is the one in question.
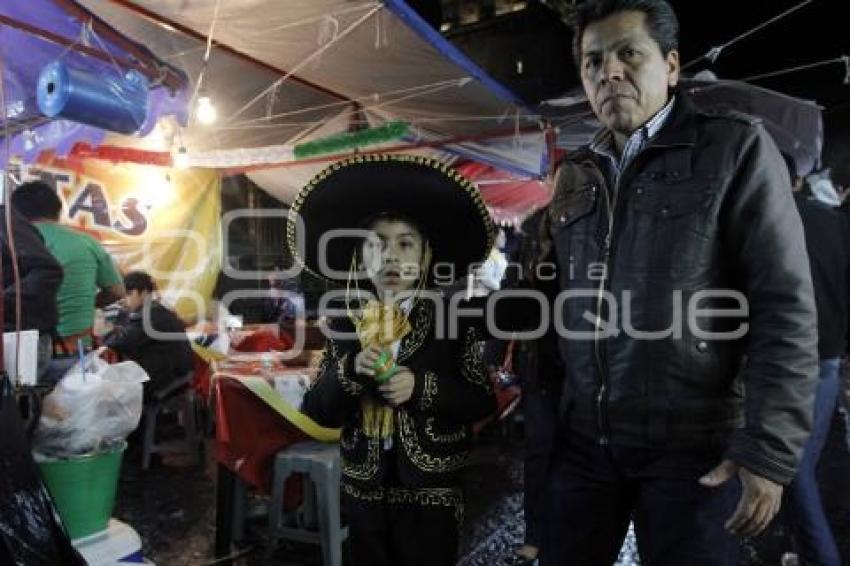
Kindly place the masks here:
<instances>
[{"instance_id":1,"label":"face of the boy wearing the black sombrero","mask_svg":"<svg viewBox=\"0 0 850 566\"><path fill-rule=\"evenodd\" d=\"M375 289L380 294L413 289L425 251L419 230L400 220L378 220L370 230L374 237L363 243L363 261Z\"/></svg>"}]
</instances>

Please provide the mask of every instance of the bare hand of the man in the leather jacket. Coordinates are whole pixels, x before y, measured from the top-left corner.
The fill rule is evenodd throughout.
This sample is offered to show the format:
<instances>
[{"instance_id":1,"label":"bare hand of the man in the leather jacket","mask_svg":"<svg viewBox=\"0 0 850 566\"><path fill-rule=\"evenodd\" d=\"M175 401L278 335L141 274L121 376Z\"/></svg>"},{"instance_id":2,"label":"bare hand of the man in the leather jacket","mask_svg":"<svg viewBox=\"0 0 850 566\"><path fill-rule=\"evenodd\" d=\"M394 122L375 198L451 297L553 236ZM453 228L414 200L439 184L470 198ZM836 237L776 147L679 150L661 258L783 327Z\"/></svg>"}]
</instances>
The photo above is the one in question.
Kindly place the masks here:
<instances>
[{"instance_id":1,"label":"bare hand of the man in the leather jacket","mask_svg":"<svg viewBox=\"0 0 850 566\"><path fill-rule=\"evenodd\" d=\"M741 479L741 499L724 527L738 536L755 536L779 512L782 486L739 467L731 460L723 460L719 466L701 477L699 482L706 487L717 487L736 474Z\"/></svg>"}]
</instances>

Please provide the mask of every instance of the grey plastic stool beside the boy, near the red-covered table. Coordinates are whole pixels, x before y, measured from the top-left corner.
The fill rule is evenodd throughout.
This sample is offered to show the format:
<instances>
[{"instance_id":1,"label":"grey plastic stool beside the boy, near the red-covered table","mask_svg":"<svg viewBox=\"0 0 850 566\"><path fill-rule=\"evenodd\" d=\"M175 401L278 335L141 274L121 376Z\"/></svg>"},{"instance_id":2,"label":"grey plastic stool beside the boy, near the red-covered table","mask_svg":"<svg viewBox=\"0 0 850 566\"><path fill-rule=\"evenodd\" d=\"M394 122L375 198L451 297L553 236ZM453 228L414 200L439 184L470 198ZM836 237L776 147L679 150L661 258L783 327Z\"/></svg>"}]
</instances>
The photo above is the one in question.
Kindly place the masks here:
<instances>
[{"instance_id":1,"label":"grey plastic stool beside the boy, near the red-covered table","mask_svg":"<svg viewBox=\"0 0 850 566\"><path fill-rule=\"evenodd\" d=\"M348 527L340 524L340 469L337 444L300 442L278 452L274 460L269 530L272 536L321 545L325 566L342 565L342 542L348 537ZM316 488L318 532L283 524L283 486L295 473L305 474Z\"/></svg>"}]
</instances>

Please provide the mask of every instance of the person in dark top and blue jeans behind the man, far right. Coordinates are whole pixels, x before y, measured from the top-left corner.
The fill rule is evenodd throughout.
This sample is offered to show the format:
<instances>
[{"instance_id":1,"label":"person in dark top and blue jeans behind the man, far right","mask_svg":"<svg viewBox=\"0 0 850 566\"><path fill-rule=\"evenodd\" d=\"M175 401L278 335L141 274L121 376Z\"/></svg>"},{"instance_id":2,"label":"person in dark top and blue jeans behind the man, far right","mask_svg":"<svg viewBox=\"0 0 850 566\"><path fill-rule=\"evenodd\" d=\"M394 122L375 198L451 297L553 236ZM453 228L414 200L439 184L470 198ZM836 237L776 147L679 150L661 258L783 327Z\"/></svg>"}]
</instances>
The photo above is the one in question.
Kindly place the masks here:
<instances>
[{"instance_id":1,"label":"person in dark top and blue jeans behind the man, far right","mask_svg":"<svg viewBox=\"0 0 850 566\"><path fill-rule=\"evenodd\" d=\"M793 161L784 157L794 179L794 201L803 221L815 288L820 379L815 393L812 435L803 448L797 475L783 503L789 506L790 512L785 517L794 534L800 562L838 566L841 558L824 514L816 471L835 413L841 358L847 353L850 230L843 215L833 208L837 196L831 185L813 192L803 190L805 183L795 175ZM823 176L810 178L820 184Z\"/></svg>"}]
</instances>

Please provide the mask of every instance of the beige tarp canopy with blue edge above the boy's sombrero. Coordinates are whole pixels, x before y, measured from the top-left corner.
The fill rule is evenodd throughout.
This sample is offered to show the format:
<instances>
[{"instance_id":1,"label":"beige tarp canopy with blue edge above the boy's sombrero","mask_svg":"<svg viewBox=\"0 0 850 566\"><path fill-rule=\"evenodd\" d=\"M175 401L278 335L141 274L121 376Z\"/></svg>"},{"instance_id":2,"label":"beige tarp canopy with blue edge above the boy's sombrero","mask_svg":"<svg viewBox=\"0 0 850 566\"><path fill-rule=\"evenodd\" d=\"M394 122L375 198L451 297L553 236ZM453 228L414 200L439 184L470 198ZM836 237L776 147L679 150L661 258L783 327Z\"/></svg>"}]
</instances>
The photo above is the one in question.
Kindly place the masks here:
<instances>
[{"instance_id":1,"label":"beige tarp canopy with blue edge above the boy's sombrero","mask_svg":"<svg viewBox=\"0 0 850 566\"><path fill-rule=\"evenodd\" d=\"M412 127L403 140L408 145L457 142L454 154L529 176L545 172L536 110L404 2L81 2L193 79L201 74L212 32L201 90L215 101L220 118L214 128L193 126L181 134L189 154L316 139L330 121L339 132L401 119ZM498 139L491 146L492 137ZM505 146L529 150L506 152ZM428 150L435 151L441 152ZM309 177L289 170L279 175ZM260 175L255 180L272 194L291 192L268 187Z\"/></svg>"}]
</instances>

